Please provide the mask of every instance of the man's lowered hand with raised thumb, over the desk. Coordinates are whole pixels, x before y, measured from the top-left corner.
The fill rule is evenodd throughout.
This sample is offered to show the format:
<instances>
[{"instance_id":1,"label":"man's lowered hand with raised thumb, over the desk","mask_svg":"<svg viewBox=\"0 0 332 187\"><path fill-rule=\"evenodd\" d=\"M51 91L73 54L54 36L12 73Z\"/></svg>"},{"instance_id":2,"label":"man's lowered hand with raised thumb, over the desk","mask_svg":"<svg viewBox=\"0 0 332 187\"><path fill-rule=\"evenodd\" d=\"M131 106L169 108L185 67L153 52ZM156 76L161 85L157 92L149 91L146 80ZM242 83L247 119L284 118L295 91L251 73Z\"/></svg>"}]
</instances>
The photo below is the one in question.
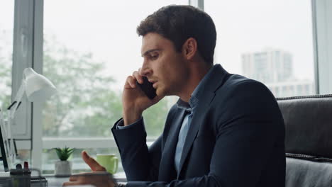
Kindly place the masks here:
<instances>
[{"instance_id":1,"label":"man's lowered hand with raised thumb, over the desk","mask_svg":"<svg viewBox=\"0 0 332 187\"><path fill-rule=\"evenodd\" d=\"M82 159L87 163L92 170L89 173L75 174L70 176L70 181L63 183L62 186L74 186L74 185L87 185L91 184L96 187L114 187L115 182L111 174L106 172L106 169L98 164L96 160L89 157L87 152L82 152Z\"/></svg>"}]
</instances>

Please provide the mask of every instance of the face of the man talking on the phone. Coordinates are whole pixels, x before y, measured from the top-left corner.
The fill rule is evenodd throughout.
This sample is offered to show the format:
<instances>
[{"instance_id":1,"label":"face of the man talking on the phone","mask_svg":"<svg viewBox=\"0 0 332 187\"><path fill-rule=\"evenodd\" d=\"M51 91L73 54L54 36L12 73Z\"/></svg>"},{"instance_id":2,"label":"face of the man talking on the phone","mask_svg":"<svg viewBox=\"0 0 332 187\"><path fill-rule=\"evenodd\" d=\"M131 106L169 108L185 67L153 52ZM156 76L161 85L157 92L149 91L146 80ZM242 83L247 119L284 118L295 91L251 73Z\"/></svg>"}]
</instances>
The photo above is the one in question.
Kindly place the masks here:
<instances>
[{"instance_id":1,"label":"face of the man talking on the phone","mask_svg":"<svg viewBox=\"0 0 332 187\"><path fill-rule=\"evenodd\" d=\"M179 96L189 75L182 52L177 52L172 41L157 33L143 36L141 52L144 60L140 74L153 82L157 95Z\"/></svg>"}]
</instances>

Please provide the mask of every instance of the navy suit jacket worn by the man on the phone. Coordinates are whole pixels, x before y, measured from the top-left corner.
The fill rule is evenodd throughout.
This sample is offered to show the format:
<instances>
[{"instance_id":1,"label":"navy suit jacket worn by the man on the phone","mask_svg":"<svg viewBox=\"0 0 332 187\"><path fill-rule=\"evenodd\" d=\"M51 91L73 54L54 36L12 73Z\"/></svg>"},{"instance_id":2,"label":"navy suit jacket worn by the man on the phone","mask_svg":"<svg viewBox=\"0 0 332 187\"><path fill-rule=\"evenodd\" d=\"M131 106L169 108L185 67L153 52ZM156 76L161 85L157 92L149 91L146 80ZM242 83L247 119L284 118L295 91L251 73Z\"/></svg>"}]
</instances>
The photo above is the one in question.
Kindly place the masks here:
<instances>
[{"instance_id":1,"label":"navy suit jacket worn by the man on the phone","mask_svg":"<svg viewBox=\"0 0 332 187\"><path fill-rule=\"evenodd\" d=\"M174 159L184 109L170 109L150 147L143 120L122 130L114 125L127 186L284 186L284 120L275 97L265 85L228 74L220 64L209 78L198 96L179 174Z\"/></svg>"}]
</instances>

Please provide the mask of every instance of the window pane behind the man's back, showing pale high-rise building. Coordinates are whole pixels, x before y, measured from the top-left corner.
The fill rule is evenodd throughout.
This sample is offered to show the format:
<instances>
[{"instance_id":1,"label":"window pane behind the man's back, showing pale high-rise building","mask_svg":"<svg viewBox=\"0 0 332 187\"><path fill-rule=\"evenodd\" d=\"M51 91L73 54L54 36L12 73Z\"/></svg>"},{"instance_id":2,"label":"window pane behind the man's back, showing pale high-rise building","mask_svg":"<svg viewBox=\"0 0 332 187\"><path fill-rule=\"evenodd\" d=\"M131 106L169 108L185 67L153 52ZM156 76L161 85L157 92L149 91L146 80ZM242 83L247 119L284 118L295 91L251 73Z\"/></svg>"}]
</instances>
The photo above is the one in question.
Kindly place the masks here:
<instances>
[{"instance_id":1,"label":"window pane behind the man's back, showing pale high-rise building","mask_svg":"<svg viewBox=\"0 0 332 187\"><path fill-rule=\"evenodd\" d=\"M216 63L262 81L276 97L315 94L297 91L314 88L311 1L205 0L204 10L216 24Z\"/></svg>"}]
</instances>

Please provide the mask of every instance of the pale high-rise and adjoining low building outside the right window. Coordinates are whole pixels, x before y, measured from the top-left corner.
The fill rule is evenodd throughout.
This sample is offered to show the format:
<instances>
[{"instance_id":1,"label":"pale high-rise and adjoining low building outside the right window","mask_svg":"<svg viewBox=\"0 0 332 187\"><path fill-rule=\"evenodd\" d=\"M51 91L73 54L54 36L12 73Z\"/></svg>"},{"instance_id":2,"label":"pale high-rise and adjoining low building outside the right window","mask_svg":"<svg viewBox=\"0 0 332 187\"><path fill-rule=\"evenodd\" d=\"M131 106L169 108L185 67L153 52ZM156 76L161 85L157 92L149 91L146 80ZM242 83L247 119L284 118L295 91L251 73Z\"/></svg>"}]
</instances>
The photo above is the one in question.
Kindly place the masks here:
<instances>
[{"instance_id":1,"label":"pale high-rise and adjoining low building outside the right window","mask_svg":"<svg viewBox=\"0 0 332 187\"><path fill-rule=\"evenodd\" d=\"M245 77L263 82L276 97L314 94L314 81L294 76L292 54L266 49L242 55ZM282 92L280 89L284 88Z\"/></svg>"}]
</instances>

